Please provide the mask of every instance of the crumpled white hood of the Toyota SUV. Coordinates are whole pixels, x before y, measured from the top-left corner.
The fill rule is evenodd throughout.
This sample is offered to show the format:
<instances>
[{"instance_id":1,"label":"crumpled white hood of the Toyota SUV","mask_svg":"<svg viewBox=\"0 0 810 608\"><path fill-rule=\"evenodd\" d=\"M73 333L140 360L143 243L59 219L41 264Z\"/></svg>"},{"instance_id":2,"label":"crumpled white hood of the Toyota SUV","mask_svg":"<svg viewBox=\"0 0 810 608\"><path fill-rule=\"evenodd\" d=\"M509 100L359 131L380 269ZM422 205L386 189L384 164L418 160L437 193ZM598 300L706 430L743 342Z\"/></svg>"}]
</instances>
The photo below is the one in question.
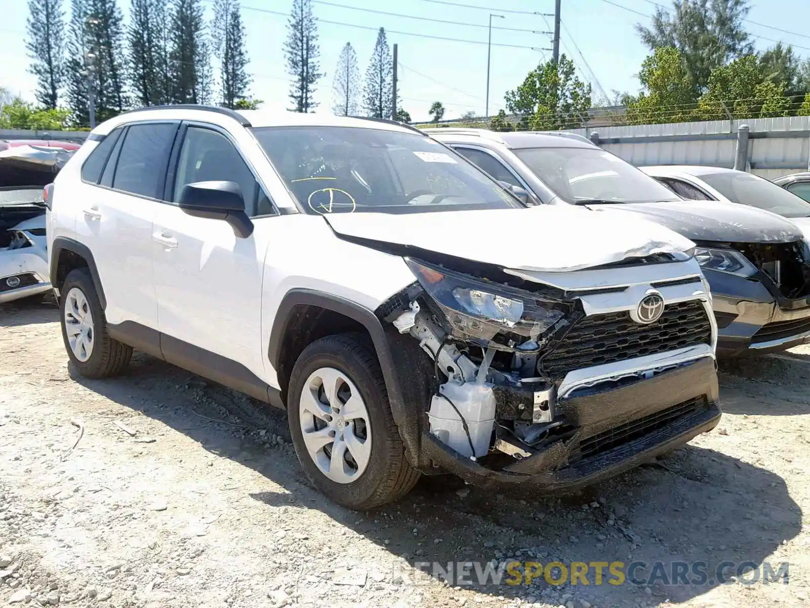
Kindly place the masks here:
<instances>
[{"instance_id":1,"label":"crumpled white hood of the Toyota SUV","mask_svg":"<svg viewBox=\"0 0 810 608\"><path fill-rule=\"evenodd\" d=\"M324 218L345 237L539 272L591 268L694 246L688 238L634 214L616 216L567 205L407 215L339 213Z\"/></svg>"}]
</instances>

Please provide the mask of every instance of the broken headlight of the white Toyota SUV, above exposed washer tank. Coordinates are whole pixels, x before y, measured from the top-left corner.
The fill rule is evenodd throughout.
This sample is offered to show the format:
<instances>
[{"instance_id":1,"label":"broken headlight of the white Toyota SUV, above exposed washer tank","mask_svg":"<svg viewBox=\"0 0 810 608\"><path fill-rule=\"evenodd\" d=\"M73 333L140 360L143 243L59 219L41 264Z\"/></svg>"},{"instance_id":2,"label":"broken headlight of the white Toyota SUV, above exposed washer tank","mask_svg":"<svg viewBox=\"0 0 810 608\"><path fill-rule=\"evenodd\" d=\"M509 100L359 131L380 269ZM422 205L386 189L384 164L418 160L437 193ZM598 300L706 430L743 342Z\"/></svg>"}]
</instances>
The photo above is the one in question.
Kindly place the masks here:
<instances>
[{"instance_id":1,"label":"broken headlight of the white Toyota SUV, above exposed washer tank","mask_svg":"<svg viewBox=\"0 0 810 608\"><path fill-rule=\"evenodd\" d=\"M561 302L540 299L522 289L414 259L406 261L457 337L489 342L499 333L511 334L514 344L507 345L531 349L531 342L552 328L567 310Z\"/></svg>"}]
</instances>

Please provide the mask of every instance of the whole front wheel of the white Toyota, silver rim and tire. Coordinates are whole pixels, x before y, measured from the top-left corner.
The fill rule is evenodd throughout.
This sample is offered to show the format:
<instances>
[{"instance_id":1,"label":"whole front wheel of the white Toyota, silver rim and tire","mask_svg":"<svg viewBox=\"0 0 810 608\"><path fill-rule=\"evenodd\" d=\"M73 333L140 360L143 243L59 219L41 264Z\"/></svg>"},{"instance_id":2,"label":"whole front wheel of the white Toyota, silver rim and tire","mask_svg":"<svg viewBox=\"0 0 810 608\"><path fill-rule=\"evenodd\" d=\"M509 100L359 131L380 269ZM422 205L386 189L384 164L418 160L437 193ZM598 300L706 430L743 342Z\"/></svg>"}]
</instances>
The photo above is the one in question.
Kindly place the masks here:
<instances>
[{"instance_id":1,"label":"whole front wheel of the white Toyota, silver rim and tire","mask_svg":"<svg viewBox=\"0 0 810 608\"><path fill-rule=\"evenodd\" d=\"M368 509L419 479L405 457L373 350L359 334L326 336L296 361L288 390L292 443L305 473L335 503Z\"/></svg>"}]
</instances>

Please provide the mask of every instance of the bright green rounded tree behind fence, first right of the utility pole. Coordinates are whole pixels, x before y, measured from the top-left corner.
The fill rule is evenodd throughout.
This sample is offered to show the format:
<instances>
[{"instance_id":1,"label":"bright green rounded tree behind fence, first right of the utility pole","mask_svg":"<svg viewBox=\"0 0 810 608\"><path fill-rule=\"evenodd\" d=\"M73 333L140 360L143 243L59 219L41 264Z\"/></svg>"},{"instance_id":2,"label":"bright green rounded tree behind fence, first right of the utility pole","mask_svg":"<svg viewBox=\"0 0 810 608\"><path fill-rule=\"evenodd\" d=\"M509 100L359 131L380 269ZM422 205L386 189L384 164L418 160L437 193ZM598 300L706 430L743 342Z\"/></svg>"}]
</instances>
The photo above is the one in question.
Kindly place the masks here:
<instances>
[{"instance_id":1,"label":"bright green rounded tree behind fence, first right of the utility pole","mask_svg":"<svg viewBox=\"0 0 810 608\"><path fill-rule=\"evenodd\" d=\"M663 46L642 63L638 79L644 90L630 101L625 120L631 125L689 120L696 103L692 81L678 49Z\"/></svg>"}]
</instances>

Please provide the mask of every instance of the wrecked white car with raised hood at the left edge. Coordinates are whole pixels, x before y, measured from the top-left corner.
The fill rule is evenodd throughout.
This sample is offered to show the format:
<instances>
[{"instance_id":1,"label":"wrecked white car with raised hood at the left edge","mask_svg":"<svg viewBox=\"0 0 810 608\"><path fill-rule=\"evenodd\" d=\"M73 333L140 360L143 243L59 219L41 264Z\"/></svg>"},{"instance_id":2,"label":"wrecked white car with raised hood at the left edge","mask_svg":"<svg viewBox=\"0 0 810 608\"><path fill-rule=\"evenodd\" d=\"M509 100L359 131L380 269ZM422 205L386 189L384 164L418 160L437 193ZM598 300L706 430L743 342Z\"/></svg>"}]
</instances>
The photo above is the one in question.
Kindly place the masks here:
<instances>
[{"instance_id":1,"label":"wrecked white car with raised hood at the left edge","mask_svg":"<svg viewBox=\"0 0 810 608\"><path fill-rule=\"evenodd\" d=\"M37 146L0 152L0 303L52 291L43 188L69 157Z\"/></svg>"}]
</instances>

